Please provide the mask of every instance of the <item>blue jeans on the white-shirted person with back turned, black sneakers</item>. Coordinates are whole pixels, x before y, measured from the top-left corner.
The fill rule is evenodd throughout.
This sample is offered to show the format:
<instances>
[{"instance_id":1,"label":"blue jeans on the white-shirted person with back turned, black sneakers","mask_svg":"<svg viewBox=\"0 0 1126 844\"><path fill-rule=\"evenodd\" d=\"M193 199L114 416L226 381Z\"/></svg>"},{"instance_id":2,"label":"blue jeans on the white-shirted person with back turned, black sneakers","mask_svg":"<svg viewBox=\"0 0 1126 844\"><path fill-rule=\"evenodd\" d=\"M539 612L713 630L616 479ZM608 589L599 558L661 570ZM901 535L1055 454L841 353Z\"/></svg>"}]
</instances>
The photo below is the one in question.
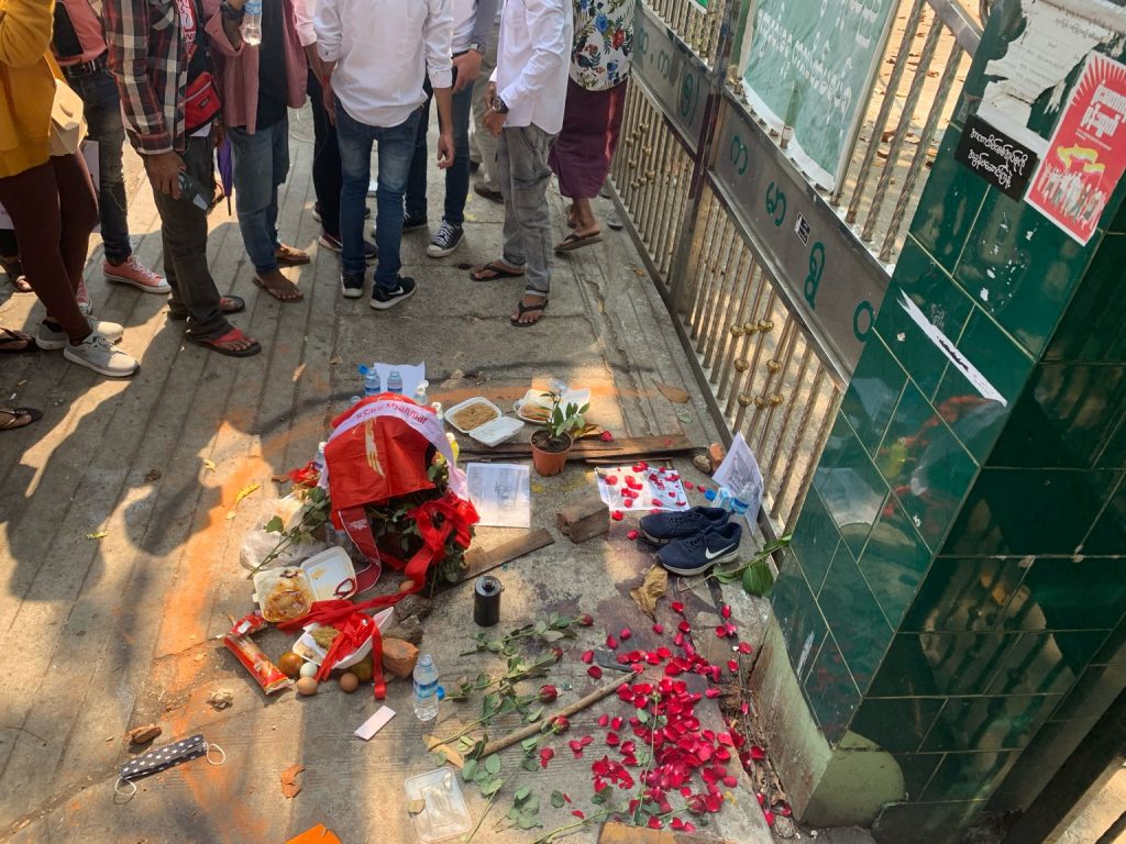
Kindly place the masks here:
<instances>
[{"instance_id":1,"label":"blue jeans on the white-shirted person with back turned, black sneakers","mask_svg":"<svg viewBox=\"0 0 1126 844\"><path fill-rule=\"evenodd\" d=\"M375 246L379 262L375 284L385 290L399 287L399 242L403 237L403 192L414 155L414 132L419 110L397 126L368 126L352 119L337 97L337 143L343 186L340 189L340 268L363 273L364 203L372 179L372 143L379 146L379 187L375 195Z\"/></svg>"}]
</instances>

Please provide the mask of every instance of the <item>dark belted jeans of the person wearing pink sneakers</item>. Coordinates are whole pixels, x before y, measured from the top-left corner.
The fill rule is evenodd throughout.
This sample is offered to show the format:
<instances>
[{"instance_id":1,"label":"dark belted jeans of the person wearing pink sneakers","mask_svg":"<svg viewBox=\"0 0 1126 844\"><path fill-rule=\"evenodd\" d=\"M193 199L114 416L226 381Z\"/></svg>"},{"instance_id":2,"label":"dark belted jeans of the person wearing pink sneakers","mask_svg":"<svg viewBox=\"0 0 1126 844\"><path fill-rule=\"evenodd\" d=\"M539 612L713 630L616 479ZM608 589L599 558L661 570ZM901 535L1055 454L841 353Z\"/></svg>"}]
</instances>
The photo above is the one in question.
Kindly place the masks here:
<instances>
[{"instance_id":1,"label":"dark belted jeans of the person wearing pink sneakers","mask_svg":"<svg viewBox=\"0 0 1126 844\"><path fill-rule=\"evenodd\" d=\"M91 141L98 142L98 212L106 259L122 263L133 254L125 206L125 180L122 176L122 101L117 83L102 65L93 73L68 77L68 83L82 98Z\"/></svg>"}]
</instances>

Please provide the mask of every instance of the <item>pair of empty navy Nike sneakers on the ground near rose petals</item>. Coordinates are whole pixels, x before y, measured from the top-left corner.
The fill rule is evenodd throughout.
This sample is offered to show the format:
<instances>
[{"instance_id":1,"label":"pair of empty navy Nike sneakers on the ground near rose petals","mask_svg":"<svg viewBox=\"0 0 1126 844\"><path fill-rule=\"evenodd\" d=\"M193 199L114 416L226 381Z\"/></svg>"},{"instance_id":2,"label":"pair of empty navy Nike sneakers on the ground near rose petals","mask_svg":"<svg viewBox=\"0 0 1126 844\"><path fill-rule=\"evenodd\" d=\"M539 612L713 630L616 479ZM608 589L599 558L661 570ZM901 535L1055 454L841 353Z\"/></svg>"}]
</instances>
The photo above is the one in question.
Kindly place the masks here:
<instances>
[{"instance_id":1,"label":"pair of empty navy Nike sneakers on the ground near rose petals","mask_svg":"<svg viewBox=\"0 0 1126 844\"><path fill-rule=\"evenodd\" d=\"M743 529L723 508L692 508L644 517L641 536L661 549L656 559L663 568L691 577L738 557Z\"/></svg>"}]
</instances>

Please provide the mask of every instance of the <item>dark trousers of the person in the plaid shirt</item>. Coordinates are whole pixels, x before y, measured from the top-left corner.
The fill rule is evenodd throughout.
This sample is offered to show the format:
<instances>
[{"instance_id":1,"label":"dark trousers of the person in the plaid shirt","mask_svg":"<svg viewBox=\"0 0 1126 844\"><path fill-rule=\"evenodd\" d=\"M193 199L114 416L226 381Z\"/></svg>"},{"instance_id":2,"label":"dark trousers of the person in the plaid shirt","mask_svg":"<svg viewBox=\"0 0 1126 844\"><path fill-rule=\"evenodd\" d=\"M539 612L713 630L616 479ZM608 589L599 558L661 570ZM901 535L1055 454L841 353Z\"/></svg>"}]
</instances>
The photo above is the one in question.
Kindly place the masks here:
<instances>
[{"instance_id":1,"label":"dark trousers of the person in the plaid shirt","mask_svg":"<svg viewBox=\"0 0 1126 844\"><path fill-rule=\"evenodd\" d=\"M188 174L199 182L204 198L212 200L212 138L189 137L181 154ZM172 199L155 188L160 212L160 236L164 244L164 276L172 286L168 309L188 317L188 333L214 340L231 330L218 308L218 289L207 267L207 212L181 196Z\"/></svg>"}]
</instances>

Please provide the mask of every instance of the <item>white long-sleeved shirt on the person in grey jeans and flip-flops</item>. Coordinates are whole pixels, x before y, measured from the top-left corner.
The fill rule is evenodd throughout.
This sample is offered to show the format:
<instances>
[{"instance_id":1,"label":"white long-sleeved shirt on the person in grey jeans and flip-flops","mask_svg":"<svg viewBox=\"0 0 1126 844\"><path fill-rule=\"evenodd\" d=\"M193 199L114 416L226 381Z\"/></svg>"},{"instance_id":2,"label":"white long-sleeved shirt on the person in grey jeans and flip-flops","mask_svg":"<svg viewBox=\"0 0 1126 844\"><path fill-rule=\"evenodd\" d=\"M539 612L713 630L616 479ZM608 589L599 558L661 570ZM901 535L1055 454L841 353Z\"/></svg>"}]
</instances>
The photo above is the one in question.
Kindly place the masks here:
<instances>
[{"instance_id":1,"label":"white long-sleeved shirt on the person in grey jeans and flip-flops","mask_svg":"<svg viewBox=\"0 0 1126 844\"><path fill-rule=\"evenodd\" d=\"M573 37L571 0L504 0L492 78L508 106L506 126L563 128Z\"/></svg>"}]
</instances>

